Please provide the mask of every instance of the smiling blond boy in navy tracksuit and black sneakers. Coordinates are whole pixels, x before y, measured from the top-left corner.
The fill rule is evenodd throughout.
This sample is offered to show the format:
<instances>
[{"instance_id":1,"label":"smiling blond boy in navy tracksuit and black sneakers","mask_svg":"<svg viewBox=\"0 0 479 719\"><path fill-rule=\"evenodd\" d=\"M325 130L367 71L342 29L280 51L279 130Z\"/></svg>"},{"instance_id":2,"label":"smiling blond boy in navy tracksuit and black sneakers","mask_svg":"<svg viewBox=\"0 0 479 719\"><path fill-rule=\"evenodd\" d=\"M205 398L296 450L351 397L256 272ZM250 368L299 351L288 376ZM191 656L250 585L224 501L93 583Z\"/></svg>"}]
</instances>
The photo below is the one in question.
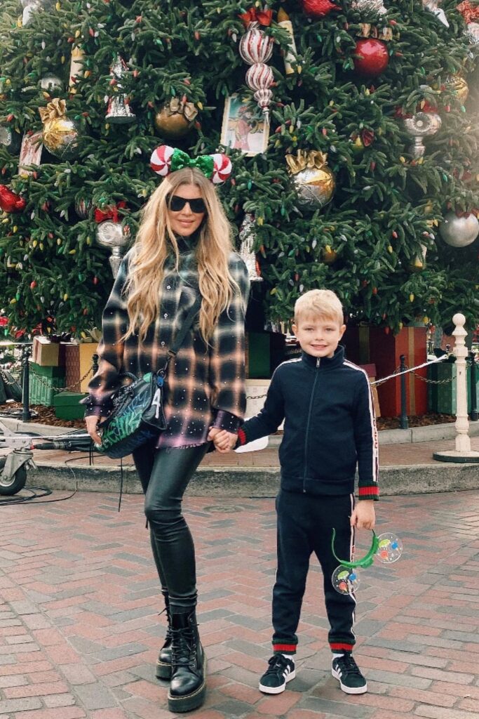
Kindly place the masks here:
<instances>
[{"instance_id":1,"label":"smiling blond boy in navy tracksuit and black sneakers","mask_svg":"<svg viewBox=\"0 0 479 719\"><path fill-rule=\"evenodd\" d=\"M311 290L294 306L293 331L300 359L283 362L271 379L264 408L238 431L236 445L275 432L284 419L279 449L281 487L276 498L278 567L273 590L273 651L259 682L266 694L283 692L294 679L297 626L310 556L322 567L330 623L332 676L346 694L367 691L352 651L355 598L332 586L338 560L350 561L355 528L372 529L378 499L378 439L366 372L338 347L343 307L330 290ZM231 435L215 436L219 452L232 449ZM359 488L355 505L354 480Z\"/></svg>"}]
</instances>

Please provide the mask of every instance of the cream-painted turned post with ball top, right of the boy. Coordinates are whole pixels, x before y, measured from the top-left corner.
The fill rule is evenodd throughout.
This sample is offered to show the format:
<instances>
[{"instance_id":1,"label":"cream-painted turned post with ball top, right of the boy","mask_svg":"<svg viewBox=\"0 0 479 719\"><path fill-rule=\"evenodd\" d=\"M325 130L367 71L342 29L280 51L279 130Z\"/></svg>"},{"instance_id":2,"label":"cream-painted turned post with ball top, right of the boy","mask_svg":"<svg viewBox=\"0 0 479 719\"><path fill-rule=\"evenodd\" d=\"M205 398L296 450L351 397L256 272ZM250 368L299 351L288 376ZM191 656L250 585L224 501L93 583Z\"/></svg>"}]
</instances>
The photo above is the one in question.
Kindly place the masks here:
<instances>
[{"instance_id":1,"label":"cream-painted turned post with ball top, right of the boy","mask_svg":"<svg viewBox=\"0 0 479 719\"><path fill-rule=\"evenodd\" d=\"M468 373L466 357L468 348L465 346L465 337L468 333L464 329L465 316L457 312L452 318L455 330L454 354L456 357L456 448L447 452L434 452L432 457L442 462L479 462L479 452L470 448L469 418L468 418Z\"/></svg>"}]
</instances>

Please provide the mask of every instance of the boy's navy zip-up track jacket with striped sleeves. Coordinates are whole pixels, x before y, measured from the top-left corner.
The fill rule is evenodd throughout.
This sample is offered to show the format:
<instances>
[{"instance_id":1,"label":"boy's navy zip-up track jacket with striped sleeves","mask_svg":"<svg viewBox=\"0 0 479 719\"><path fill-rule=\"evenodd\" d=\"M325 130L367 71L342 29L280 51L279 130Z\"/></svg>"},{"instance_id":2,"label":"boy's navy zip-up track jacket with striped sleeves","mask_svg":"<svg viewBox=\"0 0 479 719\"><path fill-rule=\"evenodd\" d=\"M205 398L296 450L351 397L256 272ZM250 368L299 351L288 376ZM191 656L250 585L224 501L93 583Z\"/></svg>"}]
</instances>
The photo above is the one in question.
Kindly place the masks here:
<instances>
[{"instance_id":1,"label":"boy's navy zip-up track jacket with striped sleeves","mask_svg":"<svg viewBox=\"0 0 479 719\"><path fill-rule=\"evenodd\" d=\"M344 357L302 352L277 367L264 408L248 419L238 444L275 432L284 419L279 448L281 486L289 492L378 499L378 434L368 376Z\"/></svg>"}]
</instances>

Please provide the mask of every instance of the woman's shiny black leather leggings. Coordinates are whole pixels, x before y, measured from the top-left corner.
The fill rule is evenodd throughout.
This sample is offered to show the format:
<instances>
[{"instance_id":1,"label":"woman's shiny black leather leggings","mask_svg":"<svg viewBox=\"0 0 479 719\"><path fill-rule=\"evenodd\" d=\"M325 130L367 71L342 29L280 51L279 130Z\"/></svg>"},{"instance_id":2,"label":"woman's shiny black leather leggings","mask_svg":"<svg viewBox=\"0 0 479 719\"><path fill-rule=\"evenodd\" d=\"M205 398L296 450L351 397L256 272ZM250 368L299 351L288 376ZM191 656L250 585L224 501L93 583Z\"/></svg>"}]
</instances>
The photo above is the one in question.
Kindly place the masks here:
<instances>
[{"instance_id":1,"label":"woman's shiny black leather leggings","mask_svg":"<svg viewBox=\"0 0 479 719\"><path fill-rule=\"evenodd\" d=\"M182 498L208 444L175 449L142 446L133 453L145 494L154 562L172 613L196 605L195 546L182 516Z\"/></svg>"}]
</instances>

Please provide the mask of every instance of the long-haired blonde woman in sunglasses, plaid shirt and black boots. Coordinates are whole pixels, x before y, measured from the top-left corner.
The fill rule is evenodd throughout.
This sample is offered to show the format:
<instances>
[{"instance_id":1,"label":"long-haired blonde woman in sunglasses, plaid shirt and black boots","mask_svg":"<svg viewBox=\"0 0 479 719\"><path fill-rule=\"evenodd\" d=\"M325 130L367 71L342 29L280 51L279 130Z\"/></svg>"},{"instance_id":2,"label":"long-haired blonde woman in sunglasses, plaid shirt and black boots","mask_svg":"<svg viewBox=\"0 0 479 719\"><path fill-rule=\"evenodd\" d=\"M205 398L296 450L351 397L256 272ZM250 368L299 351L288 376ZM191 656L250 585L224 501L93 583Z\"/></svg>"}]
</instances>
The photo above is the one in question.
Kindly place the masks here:
<instances>
[{"instance_id":1,"label":"long-haired blonde woman in sunglasses, plaid shirt and black boots","mask_svg":"<svg viewBox=\"0 0 479 719\"><path fill-rule=\"evenodd\" d=\"M169 709L185 712L203 703L205 657L195 616L195 549L182 516L182 497L208 450L208 431L210 439L222 429L234 434L243 417L249 282L243 261L232 252L231 228L208 179L210 157L191 160L167 149L173 154L161 173L166 175L170 165L182 169L164 178L144 208L136 242L103 312L98 372L83 401L88 433L99 443L97 424L108 416L118 375L144 375L162 367L200 293L199 318L169 365L168 429L134 452L168 618L157 677L171 679Z\"/></svg>"}]
</instances>

